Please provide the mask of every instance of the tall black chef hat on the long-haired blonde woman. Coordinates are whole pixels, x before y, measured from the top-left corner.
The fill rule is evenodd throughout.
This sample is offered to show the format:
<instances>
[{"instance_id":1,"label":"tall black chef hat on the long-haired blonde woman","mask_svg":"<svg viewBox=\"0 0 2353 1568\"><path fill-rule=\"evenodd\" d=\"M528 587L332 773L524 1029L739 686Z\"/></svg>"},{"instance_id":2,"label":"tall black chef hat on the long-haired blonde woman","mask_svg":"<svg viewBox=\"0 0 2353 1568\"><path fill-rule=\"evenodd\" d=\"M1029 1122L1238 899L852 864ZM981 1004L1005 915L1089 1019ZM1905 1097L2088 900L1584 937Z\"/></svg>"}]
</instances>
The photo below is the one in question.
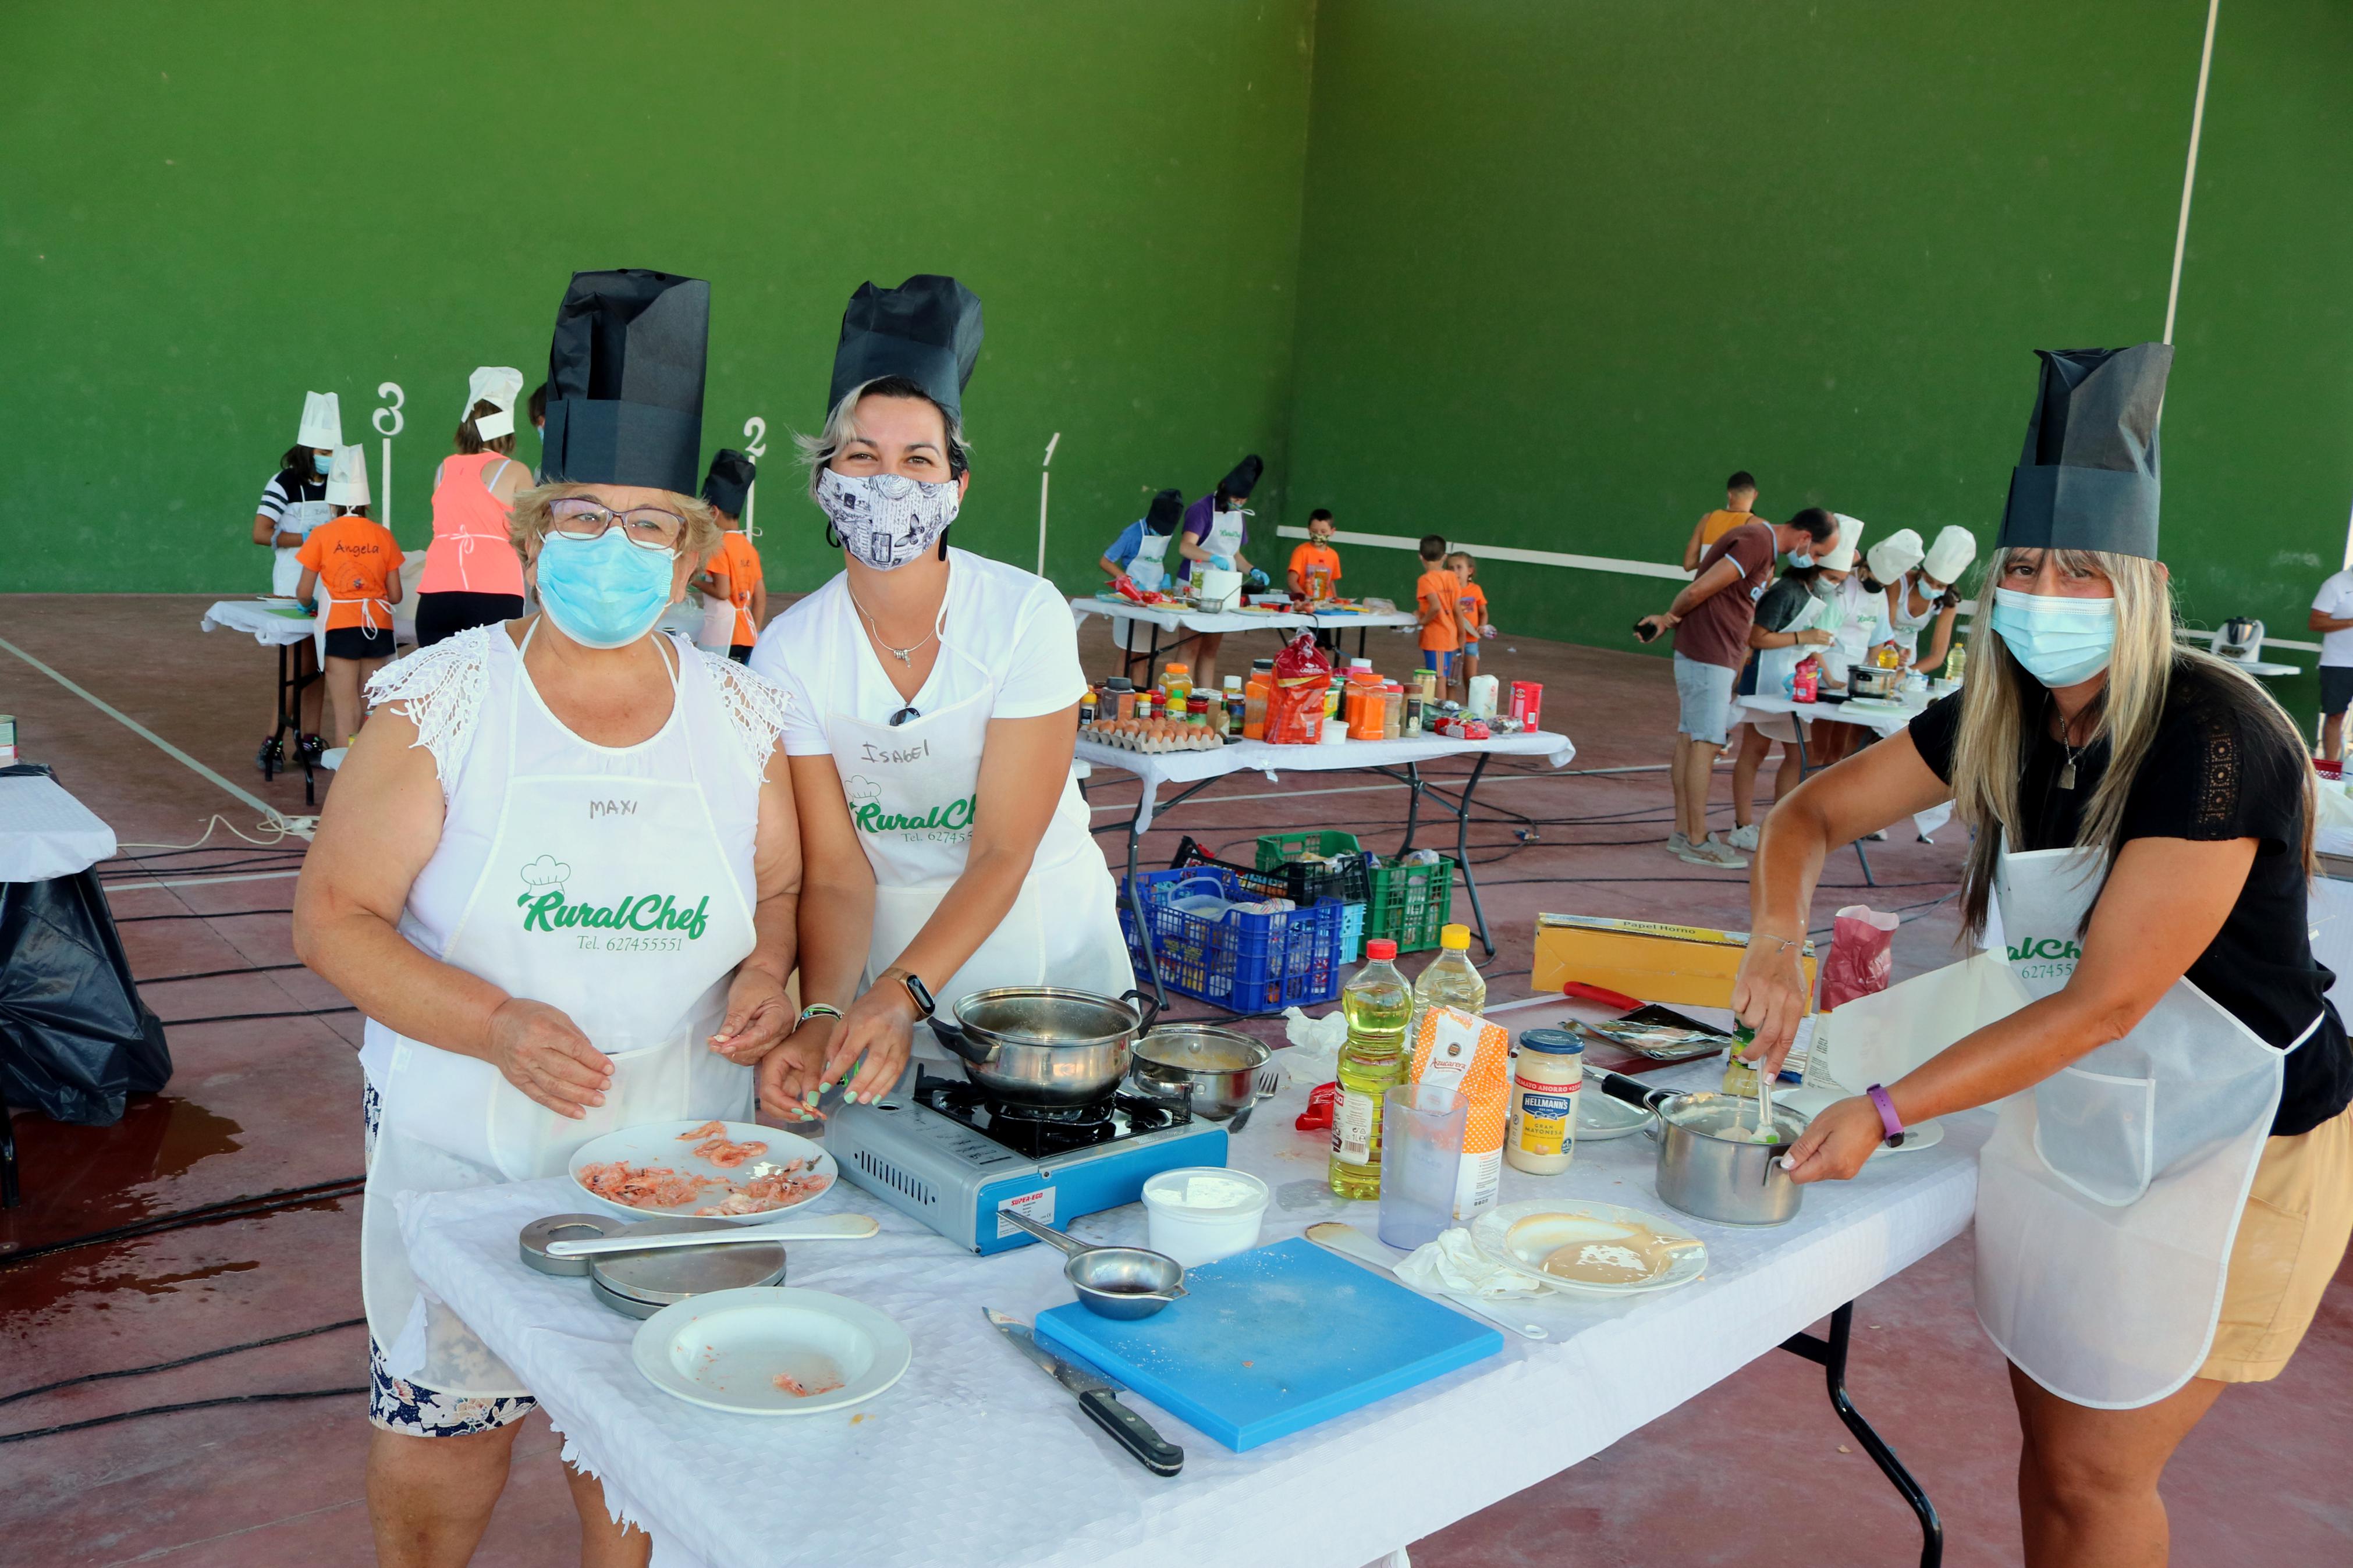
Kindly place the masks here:
<instances>
[{"instance_id":1,"label":"tall black chef hat on the long-haired blonde woman","mask_svg":"<svg viewBox=\"0 0 2353 1568\"><path fill-rule=\"evenodd\" d=\"M1995 548L2158 559L2158 409L2172 343L2035 353L2042 386Z\"/></svg>"}]
</instances>

